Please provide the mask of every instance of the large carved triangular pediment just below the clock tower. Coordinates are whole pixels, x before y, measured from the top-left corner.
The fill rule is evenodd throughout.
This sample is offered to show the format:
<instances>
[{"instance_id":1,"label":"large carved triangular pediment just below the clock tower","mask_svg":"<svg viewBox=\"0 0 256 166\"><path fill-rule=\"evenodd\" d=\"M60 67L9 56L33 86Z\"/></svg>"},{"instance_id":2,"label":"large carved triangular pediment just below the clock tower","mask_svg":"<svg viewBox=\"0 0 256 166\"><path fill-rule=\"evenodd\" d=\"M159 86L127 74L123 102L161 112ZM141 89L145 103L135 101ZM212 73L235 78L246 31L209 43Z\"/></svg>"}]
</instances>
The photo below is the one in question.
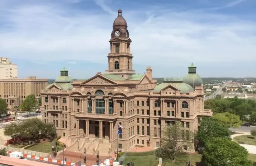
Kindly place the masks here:
<instances>
[{"instance_id":1,"label":"large carved triangular pediment just below the clock tower","mask_svg":"<svg viewBox=\"0 0 256 166\"><path fill-rule=\"evenodd\" d=\"M117 83L100 74L96 74L94 77L82 82L81 85L117 85Z\"/></svg>"}]
</instances>

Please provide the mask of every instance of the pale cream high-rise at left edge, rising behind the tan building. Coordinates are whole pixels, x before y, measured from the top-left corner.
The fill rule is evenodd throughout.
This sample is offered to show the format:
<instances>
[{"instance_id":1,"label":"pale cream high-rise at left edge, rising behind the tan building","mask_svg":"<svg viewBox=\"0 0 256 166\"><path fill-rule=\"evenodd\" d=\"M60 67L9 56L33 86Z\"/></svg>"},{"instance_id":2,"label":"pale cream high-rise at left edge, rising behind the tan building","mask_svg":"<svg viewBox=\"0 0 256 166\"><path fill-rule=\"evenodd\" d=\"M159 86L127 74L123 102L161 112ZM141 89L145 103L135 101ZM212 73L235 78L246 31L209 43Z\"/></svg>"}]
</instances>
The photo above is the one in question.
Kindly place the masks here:
<instances>
[{"instance_id":1,"label":"pale cream high-rise at left edge, rising behind the tan building","mask_svg":"<svg viewBox=\"0 0 256 166\"><path fill-rule=\"evenodd\" d=\"M9 58L0 57L0 79L18 77L18 66L12 64Z\"/></svg>"}]
</instances>

